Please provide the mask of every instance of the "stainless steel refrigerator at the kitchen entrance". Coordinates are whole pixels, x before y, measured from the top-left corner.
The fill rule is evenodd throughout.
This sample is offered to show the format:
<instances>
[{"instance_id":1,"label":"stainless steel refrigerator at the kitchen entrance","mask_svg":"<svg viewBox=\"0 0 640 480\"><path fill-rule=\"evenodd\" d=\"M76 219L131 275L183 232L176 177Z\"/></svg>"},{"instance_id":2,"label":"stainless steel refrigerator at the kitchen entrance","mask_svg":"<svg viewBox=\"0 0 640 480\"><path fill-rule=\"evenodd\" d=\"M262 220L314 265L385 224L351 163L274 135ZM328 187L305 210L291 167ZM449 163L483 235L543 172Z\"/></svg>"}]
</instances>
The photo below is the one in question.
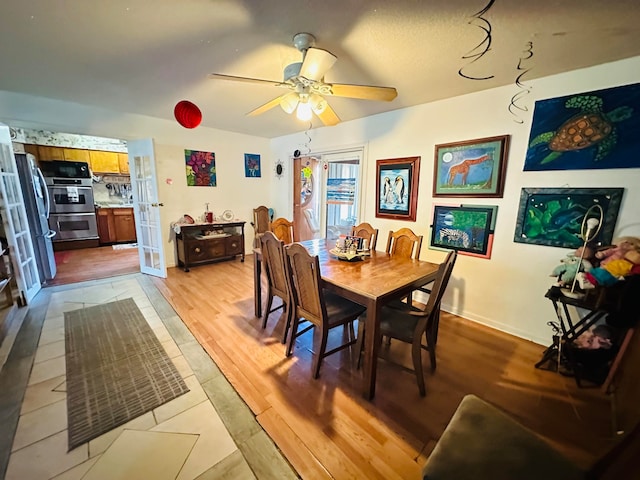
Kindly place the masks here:
<instances>
[{"instance_id":1,"label":"stainless steel refrigerator at the kitchen entrance","mask_svg":"<svg viewBox=\"0 0 640 480\"><path fill-rule=\"evenodd\" d=\"M49 229L49 193L35 157L23 153L17 153L15 157L29 219L33 253L38 264L40 281L44 284L56 276L56 259L51 242L55 232Z\"/></svg>"}]
</instances>

